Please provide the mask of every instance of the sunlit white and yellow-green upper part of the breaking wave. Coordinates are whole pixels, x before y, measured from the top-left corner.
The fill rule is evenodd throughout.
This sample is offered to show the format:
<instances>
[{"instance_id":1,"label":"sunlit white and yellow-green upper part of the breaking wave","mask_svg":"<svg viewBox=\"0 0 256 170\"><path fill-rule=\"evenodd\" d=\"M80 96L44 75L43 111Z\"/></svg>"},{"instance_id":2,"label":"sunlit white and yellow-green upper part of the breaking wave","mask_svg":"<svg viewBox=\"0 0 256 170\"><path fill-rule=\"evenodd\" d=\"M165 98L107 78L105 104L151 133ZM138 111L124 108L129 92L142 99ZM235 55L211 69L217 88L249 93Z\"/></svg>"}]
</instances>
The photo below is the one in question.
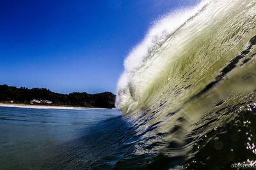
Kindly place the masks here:
<instances>
[{"instance_id":1,"label":"sunlit white and yellow-green upper part of the breaking wave","mask_svg":"<svg viewBox=\"0 0 256 170\"><path fill-rule=\"evenodd\" d=\"M202 1L193 8L175 11L157 21L125 59L125 70L118 82L116 108L130 112L143 105L152 96L150 94L161 94L159 91L163 91L164 85L186 73L183 67L188 67L186 64L190 60L193 63L188 63L189 66L200 62L214 67L212 62L231 59L223 52L236 47L241 50L241 42L253 34L254 3ZM202 71L206 72L207 67Z\"/></svg>"}]
</instances>

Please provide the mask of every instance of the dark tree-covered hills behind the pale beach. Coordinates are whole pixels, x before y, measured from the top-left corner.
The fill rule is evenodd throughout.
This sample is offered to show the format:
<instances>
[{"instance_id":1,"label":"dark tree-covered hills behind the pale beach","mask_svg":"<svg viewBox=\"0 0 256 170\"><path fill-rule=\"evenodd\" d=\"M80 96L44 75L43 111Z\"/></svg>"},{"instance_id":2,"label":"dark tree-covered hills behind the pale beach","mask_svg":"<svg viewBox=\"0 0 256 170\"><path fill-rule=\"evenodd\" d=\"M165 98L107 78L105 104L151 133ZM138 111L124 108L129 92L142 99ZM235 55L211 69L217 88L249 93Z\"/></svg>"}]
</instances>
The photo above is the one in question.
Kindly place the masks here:
<instances>
[{"instance_id":1,"label":"dark tree-covered hills behind the pale beach","mask_svg":"<svg viewBox=\"0 0 256 170\"><path fill-rule=\"evenodd\" d=\"M86 92L72 92L60 94L51 92L49 89L26 87L12 87L0 85L0 102L31 104L32 100L52 101L53 106L79 106L90 108L115 108L115 94L102 92L99 94L88 94Z\"/></svg>"}]
</instances>

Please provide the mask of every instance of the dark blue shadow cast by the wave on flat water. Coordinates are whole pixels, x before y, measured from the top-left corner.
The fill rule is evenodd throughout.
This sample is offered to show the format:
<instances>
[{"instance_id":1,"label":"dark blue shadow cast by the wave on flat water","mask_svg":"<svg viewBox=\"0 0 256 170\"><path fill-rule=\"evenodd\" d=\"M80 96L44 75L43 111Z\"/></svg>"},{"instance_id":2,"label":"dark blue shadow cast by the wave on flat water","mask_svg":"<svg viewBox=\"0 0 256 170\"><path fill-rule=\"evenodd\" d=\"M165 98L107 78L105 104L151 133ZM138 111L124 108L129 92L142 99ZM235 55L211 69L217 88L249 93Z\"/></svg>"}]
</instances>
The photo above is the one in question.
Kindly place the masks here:
<instances>
[{"instance_id":1,"label":"dark blue shadow cast by the wave on flat water","mask_svg":"<svg viewBox=\"0 0 256 170\"><path fill-rule=\"evenodd\" d=\"M83 131L83 136L58 146L54 159L46 160L47 169L113 169L123 155L132 150L132 125L122 116L109 118Z\"/></svg>"}]
</instances>

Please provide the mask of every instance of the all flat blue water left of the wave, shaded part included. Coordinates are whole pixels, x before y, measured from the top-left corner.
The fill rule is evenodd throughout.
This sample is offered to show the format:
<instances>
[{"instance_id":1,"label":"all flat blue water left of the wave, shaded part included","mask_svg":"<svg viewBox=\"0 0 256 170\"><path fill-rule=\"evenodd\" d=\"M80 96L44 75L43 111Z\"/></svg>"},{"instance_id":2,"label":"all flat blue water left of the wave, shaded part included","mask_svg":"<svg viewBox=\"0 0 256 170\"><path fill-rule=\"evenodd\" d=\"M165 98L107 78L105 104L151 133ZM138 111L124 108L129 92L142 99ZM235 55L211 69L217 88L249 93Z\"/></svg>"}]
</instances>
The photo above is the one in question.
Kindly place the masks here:
<instances>
[{"instance_id":1,"label":"all flat blue water left of the wave, shaded part included","mask_svg":"<svg viewBox=\"0 0 256 170\"><path fill-rule=\"evenodd\" d=\"M84 169L117 110L0 107L0 169ZM104 129L102 129L104 128ZM100 151L102 150L102 151Z\"/></svg>"}]
</instances>

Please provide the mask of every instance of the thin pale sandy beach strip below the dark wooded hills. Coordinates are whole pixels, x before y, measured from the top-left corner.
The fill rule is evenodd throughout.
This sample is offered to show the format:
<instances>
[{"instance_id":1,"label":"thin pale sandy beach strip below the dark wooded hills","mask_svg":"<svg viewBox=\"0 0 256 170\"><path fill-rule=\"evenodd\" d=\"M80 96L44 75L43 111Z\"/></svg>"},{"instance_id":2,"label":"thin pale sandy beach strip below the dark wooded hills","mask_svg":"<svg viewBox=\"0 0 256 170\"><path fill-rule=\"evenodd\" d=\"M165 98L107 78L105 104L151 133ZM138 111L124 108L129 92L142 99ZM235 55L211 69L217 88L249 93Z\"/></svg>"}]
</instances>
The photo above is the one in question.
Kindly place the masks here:
<instances>
[{"instance_id":1,"label":"thin pale sandy beach strip below the dark wooded hills","mask_svg":"<svg viewBox=\"0 0 256 170\"><path fill-rule=\"evenodd\" d=\"M15 104L15 103L0 103L0 107L5 108L31 108L31 109L56 109L56 110L113 110L108 108L84 108L72 106L44 106L44 105L31 105L31 104Z\"/></svg>"}]
</instances>

